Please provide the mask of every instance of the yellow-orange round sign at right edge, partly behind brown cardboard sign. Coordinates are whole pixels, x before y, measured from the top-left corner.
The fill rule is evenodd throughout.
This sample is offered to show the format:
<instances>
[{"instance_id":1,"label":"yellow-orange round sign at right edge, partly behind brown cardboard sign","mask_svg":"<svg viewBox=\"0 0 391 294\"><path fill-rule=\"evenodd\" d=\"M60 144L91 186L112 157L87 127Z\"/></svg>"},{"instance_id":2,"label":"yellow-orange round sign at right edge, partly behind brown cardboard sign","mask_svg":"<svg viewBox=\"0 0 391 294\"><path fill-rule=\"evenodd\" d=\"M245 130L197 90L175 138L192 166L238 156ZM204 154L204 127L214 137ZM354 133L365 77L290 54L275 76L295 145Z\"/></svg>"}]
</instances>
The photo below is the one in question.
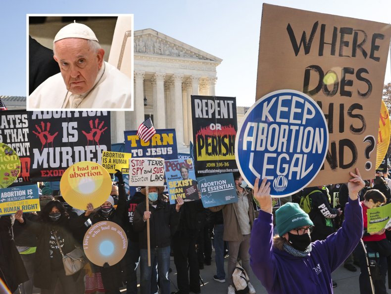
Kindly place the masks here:
<instances>
[{"instance_id":1,"label":"yellow-orange round sign at right edge, partly behind brown cardboard sign","mask_svg":"<svg viewBox=\"0 0 391 294\"><path fill-rule=\"evenodd\" d=\"M376 168L378 169L382 164L383 159L387 154L387 150L390 145L390 135L391 135L391 122L390 114L387 109L386 103L382 100L382 108L380 109L380 119L379 119L379 132L378 132L378 141L377 141L377 152L376 152ZM387 167L387 162L386 162Z\"/></svg>"}]
</instances>

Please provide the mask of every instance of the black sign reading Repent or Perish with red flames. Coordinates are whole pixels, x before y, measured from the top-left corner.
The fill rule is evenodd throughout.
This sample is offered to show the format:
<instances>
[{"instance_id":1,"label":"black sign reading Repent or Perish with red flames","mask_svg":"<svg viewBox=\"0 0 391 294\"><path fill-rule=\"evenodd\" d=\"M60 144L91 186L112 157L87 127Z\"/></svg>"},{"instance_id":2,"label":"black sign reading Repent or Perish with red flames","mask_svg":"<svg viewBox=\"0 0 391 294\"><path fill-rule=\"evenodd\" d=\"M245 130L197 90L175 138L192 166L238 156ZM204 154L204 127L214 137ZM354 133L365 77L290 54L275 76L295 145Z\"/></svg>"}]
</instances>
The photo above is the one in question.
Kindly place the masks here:
<instances>
[{"instance_id":1,"label":"black sign reading Repent or Perish with red flames","mask_svg":"<svg viewBox=\"0 0 391 294\"><path fill-rule=\"evenodd\" d=\"M196 176L238 172L236 98L192 95Z\"/></svg>"}]
</instances>

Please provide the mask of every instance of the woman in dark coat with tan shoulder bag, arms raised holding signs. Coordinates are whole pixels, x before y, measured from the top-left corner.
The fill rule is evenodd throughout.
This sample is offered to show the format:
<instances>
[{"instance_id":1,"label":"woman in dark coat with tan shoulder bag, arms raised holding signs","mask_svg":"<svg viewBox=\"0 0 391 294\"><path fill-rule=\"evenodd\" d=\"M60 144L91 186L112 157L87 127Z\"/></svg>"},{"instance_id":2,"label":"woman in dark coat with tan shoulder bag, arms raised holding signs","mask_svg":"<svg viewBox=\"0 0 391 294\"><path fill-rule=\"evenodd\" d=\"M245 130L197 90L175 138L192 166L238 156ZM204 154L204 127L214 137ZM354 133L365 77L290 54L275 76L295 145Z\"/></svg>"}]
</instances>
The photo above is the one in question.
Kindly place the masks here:
<instances>
[{"instance_id":1,"label":"woman in dark coat with tan shoulder bag, arms raised holding signs","mask_svg":"<svg viewBox=\"0 0 391 294\"><path fill-rule=\"evenodd\" d=\"M61 283L64 293L77 292L75 284L78 274L65 275L62 256L57 245L60 244L64 254L69 253L77 243L72 232L79 230L93 212L92 204L87 205L87 211L77 219L70 220L65 207L58 200L51 200L41 210L40 221L32 222L23 216L23 211L15 214L14 226L25 226L38 237L36 256L34 259L34 286L41 288L41 294L53 294L57 280Z\"/></svg>"}]
</instances>

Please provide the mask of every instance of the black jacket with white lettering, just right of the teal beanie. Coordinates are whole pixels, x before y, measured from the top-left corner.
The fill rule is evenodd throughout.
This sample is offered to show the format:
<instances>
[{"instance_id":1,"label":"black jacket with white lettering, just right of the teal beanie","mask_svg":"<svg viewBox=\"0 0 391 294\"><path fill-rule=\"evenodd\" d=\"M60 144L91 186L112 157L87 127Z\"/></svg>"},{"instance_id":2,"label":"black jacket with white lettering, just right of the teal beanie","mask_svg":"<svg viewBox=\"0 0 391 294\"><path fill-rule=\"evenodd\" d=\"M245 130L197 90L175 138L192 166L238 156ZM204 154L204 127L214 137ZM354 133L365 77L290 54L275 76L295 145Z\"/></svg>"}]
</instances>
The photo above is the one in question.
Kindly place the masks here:
<instances>
[{"instance_id":1,"label":"black jacket with white lettering, just right of the teal beanie","mask_svg":"<svg viewBox=\"0 0 391 294\"><path fill-rule=\"evenodd\" d=\"M308 195L311 202L311 211L309 212L309 218L314 223L314 231L311 233L312 241L324 240L328 235L335 232L334 218L338 216L338 211L335 208L331 208L329 202L329 195L326 190L319 189L317 187L305 188L302 195Z\"/></svg>"}]
</instances>

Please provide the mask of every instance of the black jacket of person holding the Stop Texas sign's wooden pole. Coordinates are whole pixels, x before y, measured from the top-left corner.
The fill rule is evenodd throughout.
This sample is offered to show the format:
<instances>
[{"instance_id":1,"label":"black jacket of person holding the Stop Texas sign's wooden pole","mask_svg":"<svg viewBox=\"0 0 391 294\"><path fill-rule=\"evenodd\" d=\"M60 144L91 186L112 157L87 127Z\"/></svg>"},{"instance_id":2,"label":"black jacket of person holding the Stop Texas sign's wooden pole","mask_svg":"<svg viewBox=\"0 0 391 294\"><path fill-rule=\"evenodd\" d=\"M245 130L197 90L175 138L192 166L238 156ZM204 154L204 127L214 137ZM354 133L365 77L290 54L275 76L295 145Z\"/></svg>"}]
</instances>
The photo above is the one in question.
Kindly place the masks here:
<instances>
[{"instance_id":1,"label":"black jacket of person holding the Stop Texas sign's wooden pole","mask_svg":"<svg viewBox=\"0 0 391 294\"><path fill-rule=\"evenodd\" d=\"M159 197L160 198L160 197ZM140 203L133 218L133 228L139 232L140 248L147 248L147 222L144 222L144 212L147 211L146 202ZM162 248L170 246L171 235L178 226L181 212L175 210L175 205L158 200L156 208L149 205L151 212L149 219L149 238L151 248Z\"/></svg>"}]
</instances>

